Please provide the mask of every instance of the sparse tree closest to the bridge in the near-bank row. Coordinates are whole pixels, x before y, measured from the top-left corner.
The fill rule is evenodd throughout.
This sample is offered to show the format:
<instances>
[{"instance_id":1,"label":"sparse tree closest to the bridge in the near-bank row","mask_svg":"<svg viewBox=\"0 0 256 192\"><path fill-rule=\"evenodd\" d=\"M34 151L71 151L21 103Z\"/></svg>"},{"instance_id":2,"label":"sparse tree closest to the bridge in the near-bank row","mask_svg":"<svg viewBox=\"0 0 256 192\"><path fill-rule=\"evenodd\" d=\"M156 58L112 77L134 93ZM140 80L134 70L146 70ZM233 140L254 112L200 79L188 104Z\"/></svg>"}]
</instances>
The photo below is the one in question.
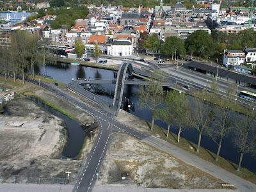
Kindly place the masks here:
<instances>
[{"instance_id":1,"label":"sparse tree closest to the bridge in the near-bank row","mask_svg":"<svg viewBox=\"0 0 256 192\"><path fill-rule=\"evenodd\" d=\"M150 74L149 85L147 88L139 89L139 102L140 109L147 108L152 110L151 131L154 129L154 120L156 118L156 108L162 103L163 100L163 75L155 70Z\"/></svg>"}]
</instances>

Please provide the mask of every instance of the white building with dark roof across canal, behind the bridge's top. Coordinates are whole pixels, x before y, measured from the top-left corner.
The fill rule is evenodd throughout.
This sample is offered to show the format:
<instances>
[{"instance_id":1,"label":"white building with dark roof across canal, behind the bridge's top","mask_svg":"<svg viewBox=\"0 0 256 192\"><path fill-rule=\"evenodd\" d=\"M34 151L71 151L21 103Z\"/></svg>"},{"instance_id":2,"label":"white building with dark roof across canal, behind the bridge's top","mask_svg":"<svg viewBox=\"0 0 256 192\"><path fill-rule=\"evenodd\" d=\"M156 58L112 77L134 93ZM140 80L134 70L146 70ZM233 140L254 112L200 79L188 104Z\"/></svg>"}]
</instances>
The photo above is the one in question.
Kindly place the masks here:
<instances>
[{"instance_id":1,"label":"white building with dark roof across canal, behind the bridge's top","mask_svg":"<svg viewBox=\"0 0 256 192\"><path fill-rule=\"evenodd\" d=\"M132 43L129 40L116 40L108 46L108 54L112 56L131 56Z\"/></svg>"}]
</instances>

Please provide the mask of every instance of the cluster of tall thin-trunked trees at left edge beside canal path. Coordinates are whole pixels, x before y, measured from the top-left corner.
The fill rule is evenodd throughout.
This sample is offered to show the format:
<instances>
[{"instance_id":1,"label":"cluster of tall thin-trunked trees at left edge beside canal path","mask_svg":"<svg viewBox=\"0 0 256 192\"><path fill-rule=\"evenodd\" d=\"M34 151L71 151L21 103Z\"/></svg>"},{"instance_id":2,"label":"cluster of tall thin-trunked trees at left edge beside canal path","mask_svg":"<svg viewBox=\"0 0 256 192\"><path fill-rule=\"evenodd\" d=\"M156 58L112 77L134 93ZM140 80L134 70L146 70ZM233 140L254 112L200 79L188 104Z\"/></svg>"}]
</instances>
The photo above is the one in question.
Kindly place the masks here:
<instances>
[{"instance_id":1,"label":"cluster of tall thin-trunked trees at left edge beside canal path","mask_svg":"<svg viewBox=\"0 0 256 192\"><path fill-rule=\"evenodd\" d=\"M50 50L47 49L48 41L38 41L38 36L24 30L15 30L11 36L11 47L0 47L1 68L5 78L9 72L13 73L16 81L17 72L22 74L22 82L25 82L25 70L31 70L35 77L34 67L40 63L44 67L45 61L54 61ZM39 49L40 48L40 49Z\"/></svg>"}]
</instances>

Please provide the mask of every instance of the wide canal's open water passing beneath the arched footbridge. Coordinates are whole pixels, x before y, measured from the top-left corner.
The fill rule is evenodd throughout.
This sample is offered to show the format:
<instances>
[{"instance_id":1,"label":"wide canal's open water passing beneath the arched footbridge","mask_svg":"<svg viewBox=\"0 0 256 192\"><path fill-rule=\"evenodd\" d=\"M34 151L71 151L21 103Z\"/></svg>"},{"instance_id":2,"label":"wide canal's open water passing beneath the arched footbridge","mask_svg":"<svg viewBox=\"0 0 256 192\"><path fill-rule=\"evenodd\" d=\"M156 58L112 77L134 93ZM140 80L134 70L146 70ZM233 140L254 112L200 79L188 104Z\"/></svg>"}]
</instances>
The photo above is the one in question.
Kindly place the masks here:
<instances>
[{"instance_id":1,"label":"wide canal's open water passing beneath the arched footbridge","mask_svg":"<svg viewBox=\"0 0 256 192\"><path fill-rule=\"evenodd\" d=\"M36 73L43 74L42 67L37 68L36 70ZM72 66L66 63L57 63L57 65L47 65L45 66L45 72L47 76L51 76L53 79L63 81L64 83L72 81L72 78L74 78L74 81L76 81L77 78L111 80L115 79L114 72L111 70L104 70L92 67ZM115 84L102 84L102 86L108 88L109 90L115 91ZM151 122L152 111L148 109L143 109L143 113L141 113L142 111L140 111L139 109L138 96L136 95L136 93L138 93L138 86L125 85L124 96L129 98L131 102L134 102L135 111L131 111L131 113L133 115L136 115L140 118L143 118ZM108 97L104 97L104 99L108 100L109 102L112 101ZM167 129L167 125L161 122L160 120L156 120L155 124L160 127L163 127L164 129ZM172 127L171 129L172 132L174 132L175 134L177 134L177 132L179 131L175 127ZM198 141L198 131L196 129L186 129L184 132L182 132L181 136L189 141L192 141L193 143L197 143ZM218 149L216 143L214 143L211 140L211 138L204 134L202 136L201 146L215 153L217 152ZM221 145L220 156L238 164L240 154L237 153L236 149L233 147L230 138L225 138L225 140L223 140L223 143ZM251 154L244 155L242 166L248 168L248 170L256 172L255 159L252 157Z\"/></svg>"}]
</instances>

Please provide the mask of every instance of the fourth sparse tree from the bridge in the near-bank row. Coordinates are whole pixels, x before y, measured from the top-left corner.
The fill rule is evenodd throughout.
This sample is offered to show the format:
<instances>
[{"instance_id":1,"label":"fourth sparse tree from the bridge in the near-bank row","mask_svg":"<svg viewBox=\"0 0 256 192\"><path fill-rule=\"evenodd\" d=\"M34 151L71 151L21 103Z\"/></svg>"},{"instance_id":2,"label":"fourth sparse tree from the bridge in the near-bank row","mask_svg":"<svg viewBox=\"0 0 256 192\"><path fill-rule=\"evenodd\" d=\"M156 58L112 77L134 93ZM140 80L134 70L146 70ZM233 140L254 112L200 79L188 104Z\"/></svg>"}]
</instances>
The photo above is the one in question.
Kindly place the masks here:
<instances>
[{"instance_id":1,"label":"fourth sparse tree from the bridge in the near-bank row","mask_svg":"<svg viewBox=\"0 0 256 192\"><path fill-rule=\"evenodd\" d=\"M209 123L212 120L212 109L210 105L207 106L204 104L204 100L209 97L205 90L196 92L194 96L194 102L190 102L189 106L189 111L191 113L189 114L188 123L191 127L195 128L199 132L196 148L196 152L199 152L202 133L204 129L209 126Z\"/></svg>"}]
</instances>

